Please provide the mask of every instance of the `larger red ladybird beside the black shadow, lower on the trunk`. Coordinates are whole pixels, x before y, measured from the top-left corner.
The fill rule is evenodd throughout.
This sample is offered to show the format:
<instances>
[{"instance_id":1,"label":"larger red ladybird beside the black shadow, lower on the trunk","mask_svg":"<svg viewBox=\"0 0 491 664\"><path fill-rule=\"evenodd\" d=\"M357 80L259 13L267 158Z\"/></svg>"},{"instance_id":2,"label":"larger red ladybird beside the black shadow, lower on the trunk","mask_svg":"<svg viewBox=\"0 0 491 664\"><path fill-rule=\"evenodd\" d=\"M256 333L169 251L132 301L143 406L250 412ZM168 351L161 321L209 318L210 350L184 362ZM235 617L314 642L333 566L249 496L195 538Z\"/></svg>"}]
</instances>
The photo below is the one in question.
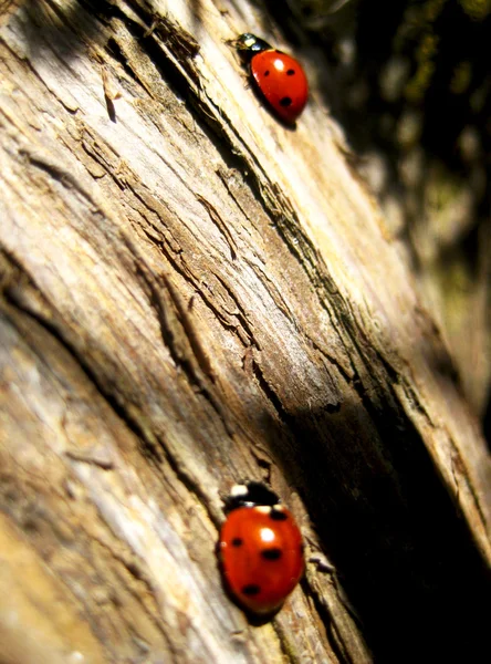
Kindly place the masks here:
<instances>
[{"instance_id":1,"label":"larger red ladybird beside the black shadow, lower on the trunk","mask_svg":"<svg viewBox=\"0 0 491 664\"><path fill-rule=\"evenodd\" d=\"M238 486L226 504L219 556L226 584L254 614L272 614L304 571L302 535L292 513L259 483Z\"/></svg>"}]
</instances>

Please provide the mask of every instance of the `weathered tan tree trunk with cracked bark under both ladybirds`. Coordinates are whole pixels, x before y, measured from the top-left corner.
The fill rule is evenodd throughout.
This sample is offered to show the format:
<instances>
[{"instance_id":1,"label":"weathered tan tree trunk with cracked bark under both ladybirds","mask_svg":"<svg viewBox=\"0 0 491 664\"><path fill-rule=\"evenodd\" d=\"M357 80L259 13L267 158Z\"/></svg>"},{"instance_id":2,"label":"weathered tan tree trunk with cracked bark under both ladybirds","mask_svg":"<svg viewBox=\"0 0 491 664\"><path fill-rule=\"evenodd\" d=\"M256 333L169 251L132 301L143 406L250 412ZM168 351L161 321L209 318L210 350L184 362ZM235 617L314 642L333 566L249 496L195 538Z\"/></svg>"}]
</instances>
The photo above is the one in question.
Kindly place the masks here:
<instances>
[{"instance_id":1,"label":"weathered tan tree trunk with cracked bark under both ladybirds","mask_svg":"<svg viewBox=\"0 0 491 664\"><path fill-rule=\"evenodd\" d=\"M315 90L278 125L222 10L2 10L1 655L478 661L477 423ZM254 626L213 549L265 476L337 573Z\"/></svg>"}]
</instances>

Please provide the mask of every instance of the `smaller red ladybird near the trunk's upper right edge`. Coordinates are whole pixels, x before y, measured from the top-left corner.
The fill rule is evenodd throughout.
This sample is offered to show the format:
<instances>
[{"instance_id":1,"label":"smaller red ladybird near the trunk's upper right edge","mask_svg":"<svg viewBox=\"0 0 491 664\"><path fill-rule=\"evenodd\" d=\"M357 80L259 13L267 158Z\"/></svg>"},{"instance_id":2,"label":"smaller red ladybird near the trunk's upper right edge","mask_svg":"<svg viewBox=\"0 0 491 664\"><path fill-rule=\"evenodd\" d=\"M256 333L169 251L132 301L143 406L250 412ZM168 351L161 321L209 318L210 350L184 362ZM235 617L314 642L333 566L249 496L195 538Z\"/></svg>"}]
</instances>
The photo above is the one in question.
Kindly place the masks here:
<instances>
[{"instance_id":1,"label":"smaller red ladybird near the trunk's upper right edge","mask_svg":"<svg viewBox=\"0 0 491 664\"><path fill-rule=\"evenodd\" d=\"M276 116L294 124L309 96L309 83L300 62L249 32L230 43L249 65L257 89Z\"/></svg>"}]
</instances>

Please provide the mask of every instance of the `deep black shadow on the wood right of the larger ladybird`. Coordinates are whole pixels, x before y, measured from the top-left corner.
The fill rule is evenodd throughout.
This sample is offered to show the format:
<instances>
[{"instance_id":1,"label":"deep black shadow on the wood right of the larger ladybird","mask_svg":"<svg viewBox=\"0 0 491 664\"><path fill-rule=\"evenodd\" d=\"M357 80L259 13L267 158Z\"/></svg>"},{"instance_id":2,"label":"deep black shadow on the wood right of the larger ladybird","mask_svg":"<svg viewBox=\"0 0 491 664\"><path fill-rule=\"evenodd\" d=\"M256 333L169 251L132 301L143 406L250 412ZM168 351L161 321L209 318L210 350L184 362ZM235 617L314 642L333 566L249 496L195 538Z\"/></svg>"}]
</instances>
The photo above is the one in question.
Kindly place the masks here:
<instances>
[{"instance_id":1,"label":"deep black shadow on the wood right of the larger ladybird","mask_svg":"<svg viewBox=\"0 0 491 664\"><path fill-rule=\"evenodd\" d=\"M374 477L372 488L358 488L363 501L353 501L337 469L342 459L325 447L315 425L300 414L290 418L303 449L296 461L309 487L303 497L322 546L343 575L377 662L414 662L425 650L431 653L425 661L435 661L438 652L459 653L459 661L472 652L476 658L483 652L487 573L468 523L456 513L411 423L406 418L401 429L400 414L377 411L370 400L364 407L386 442L382 453L391 470ZM325 504L318 499L323 485ZM453 644L446 642L448 629L460 634ZM407 644L405 653L400 643Z\"/></svg>"}]
</instances>

